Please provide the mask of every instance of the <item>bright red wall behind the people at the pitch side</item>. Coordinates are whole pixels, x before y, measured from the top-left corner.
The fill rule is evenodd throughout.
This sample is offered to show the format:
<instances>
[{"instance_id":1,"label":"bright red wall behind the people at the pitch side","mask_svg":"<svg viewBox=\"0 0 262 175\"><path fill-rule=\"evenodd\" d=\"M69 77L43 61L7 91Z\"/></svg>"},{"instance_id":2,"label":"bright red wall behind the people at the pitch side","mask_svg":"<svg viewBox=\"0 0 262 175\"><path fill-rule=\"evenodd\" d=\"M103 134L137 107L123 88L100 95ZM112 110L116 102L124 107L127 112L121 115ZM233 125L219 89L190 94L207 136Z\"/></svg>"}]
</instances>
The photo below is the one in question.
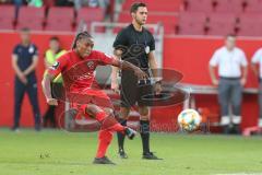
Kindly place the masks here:
<instances>
[{"instance_id":1,"label":"bright red wall behind the people at the pitch side","mask_svg":"<svg viewBox=\"0 0 262 175\"><path fill-rule=\"evenodd\" d=\"M44 72L44 50L48 48L48 39L50 34L33 34L32 40L35 43L40 52L40 61L37 67L38 86ZM61 39L63 48L70 48L73 35L58 35ZM15 44L20 42L19 35L15 33L0 33L0 126L11 126L13 120L13 81L14 72L11 67L11 54ZM211 84L209 77L209 60L214 50L223 45L223 38L187 38L187 37L165 37L164 39L164 68L176 69L184 75L183 82L195 84ZM262 39L245 39L239 38L238 46L251 59L253 52L262 46ZM249 72L247 86L255 88L257 79L252 72ZM38 90L41 114L46 109L45 98ZM201 107L211 107L217 109L216 97L202 96L196 97L198 105ZM172 106L157 108L152 110L152 124L155 130L160 127L162 130L175 130L176 115L181 106ZM165 112L165 113L163 113ZM165 114L165 115L163 115ZM242 108L243 124L242 127L253 126L258 118L258 104L255 95L246 95ZM21 116L22 126L32 126L32 109L26 96L22 106Z\"/></svg>"}]
</instances>

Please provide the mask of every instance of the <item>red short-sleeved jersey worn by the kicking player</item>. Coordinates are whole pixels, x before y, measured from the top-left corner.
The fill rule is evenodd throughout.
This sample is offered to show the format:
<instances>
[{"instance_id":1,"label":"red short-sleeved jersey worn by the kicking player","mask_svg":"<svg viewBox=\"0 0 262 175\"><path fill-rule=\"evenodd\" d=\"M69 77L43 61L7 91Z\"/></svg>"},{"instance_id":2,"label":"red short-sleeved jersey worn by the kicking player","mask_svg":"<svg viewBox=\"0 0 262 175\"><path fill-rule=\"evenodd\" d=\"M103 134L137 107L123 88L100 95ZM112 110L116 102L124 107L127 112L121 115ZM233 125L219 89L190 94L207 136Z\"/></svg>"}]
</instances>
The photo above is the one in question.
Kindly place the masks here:
<instances>
[{"instance_id":1,"label":"red short-sleeved jersey worn by the kicking player","mask_svg":"<svg viewBox=\"0 0 262 175\"><path fill-rule=\"evenodd\" d=\"M111 65L114 58L104 52L92 50L91 55L85 58L70 50L48 69L52 75L62 74L64 88L69 92L81 92L91 88L94 82L94 71L99 65Z\"/></svg>"}]
</instances>

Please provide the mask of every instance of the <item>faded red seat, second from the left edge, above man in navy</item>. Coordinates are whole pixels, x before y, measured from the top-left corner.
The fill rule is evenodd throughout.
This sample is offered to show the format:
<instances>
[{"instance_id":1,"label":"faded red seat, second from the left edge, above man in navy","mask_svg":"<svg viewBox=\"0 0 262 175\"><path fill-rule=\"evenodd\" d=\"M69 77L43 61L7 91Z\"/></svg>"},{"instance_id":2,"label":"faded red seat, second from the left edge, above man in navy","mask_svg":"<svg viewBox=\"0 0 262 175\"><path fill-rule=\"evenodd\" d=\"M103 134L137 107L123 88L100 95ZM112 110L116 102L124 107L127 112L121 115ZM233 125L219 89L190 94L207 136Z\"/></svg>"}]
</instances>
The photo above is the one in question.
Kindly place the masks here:
<instances>
[{"instance_id":1,"label":"faded red seat, second from the left edge, above man in navy","mask_svg":"<svg viewBox=\"0 0 262 175\"><path fill-rule=\"evenodd\" d=\"M41 31L44 19L44 8L22 7L20 9L16 28L28 27L34 31Z\"/></svg>"}]
</instances>

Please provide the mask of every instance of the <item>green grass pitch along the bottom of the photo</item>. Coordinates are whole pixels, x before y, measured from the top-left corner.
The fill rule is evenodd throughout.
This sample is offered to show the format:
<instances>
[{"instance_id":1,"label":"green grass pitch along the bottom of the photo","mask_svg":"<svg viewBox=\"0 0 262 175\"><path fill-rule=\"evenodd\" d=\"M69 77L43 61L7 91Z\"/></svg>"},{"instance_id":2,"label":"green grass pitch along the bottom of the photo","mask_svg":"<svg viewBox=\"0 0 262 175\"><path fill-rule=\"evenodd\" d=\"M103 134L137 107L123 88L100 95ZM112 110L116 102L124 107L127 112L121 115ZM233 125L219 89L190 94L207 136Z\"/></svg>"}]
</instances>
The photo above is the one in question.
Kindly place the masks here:
<instances>
[{"instance_id":1,"label":"green grass pitch along the bottom of the photo","mask_svg":"<svg viewBox=\"0 0 262 175\"><path fill-rule=\"evenodd\" d=\"M262 175L262 138L153 133L151 148L163 161L141 159L141 139L127 140L128 160L108 150L114 165L93 165L96 133L58 130L20 133L0 129L1 175Z\"/></svg>"}]
</instances>

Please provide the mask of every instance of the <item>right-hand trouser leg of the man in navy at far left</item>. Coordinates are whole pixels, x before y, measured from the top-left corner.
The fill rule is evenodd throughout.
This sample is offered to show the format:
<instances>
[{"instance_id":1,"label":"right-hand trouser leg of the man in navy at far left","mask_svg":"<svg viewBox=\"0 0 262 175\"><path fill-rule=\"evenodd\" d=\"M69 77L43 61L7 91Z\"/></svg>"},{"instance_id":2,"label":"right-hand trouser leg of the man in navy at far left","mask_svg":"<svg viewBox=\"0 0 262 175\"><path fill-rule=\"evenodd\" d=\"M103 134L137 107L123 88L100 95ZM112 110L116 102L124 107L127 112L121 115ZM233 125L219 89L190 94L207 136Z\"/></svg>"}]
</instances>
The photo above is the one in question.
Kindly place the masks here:
<instances>
[{"instance_id":1,"label":"right-hand trouser leg of the man in navy at far left","mask_svg":"<svg viewBox=\"0 0 262 175\"><path fill-rule=\"evenodd\" d=\"M35 129L40 130L40 110L38 106L38 95L37 95L37 84L29 83L26 88L31 105L33 107L34 119L35 119Z\"/></svg>"}]
</instances>

